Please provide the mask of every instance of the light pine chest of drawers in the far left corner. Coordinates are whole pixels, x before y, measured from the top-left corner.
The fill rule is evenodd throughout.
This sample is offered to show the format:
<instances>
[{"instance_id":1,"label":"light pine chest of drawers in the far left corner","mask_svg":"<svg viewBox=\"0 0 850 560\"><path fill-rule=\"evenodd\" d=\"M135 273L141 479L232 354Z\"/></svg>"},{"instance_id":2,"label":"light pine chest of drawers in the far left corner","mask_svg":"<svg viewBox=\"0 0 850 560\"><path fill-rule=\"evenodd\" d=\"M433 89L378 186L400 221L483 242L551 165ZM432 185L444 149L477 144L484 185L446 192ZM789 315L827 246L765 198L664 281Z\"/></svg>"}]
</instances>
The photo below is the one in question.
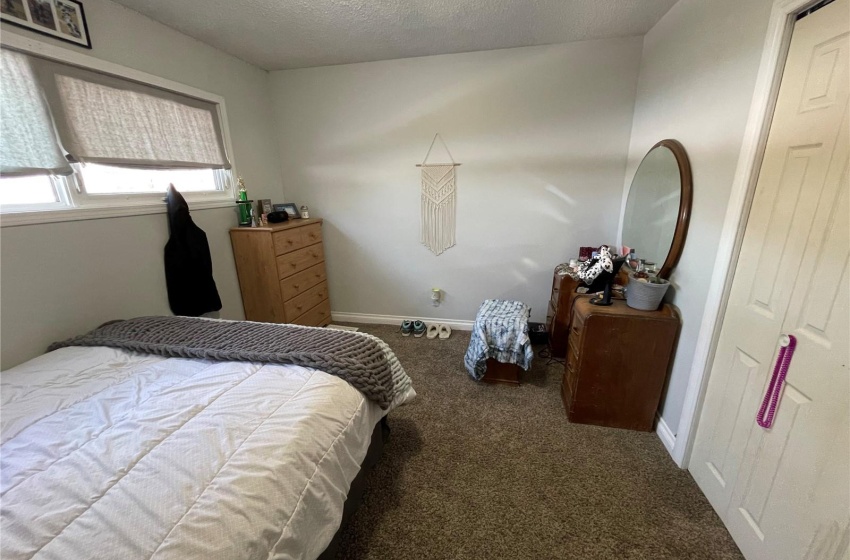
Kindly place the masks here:
<instances>
[{"instance_id":1,"label":"light pine chest of drawers in the far left corner","mask_svg":"<svg viewBox=\"0 0 850 560\"><path fill-rule=\"evenodd\" d=\"M308 326L331 322L322 220L233 228L230 241L246 319Z\"/></svg>"}]
</instances>

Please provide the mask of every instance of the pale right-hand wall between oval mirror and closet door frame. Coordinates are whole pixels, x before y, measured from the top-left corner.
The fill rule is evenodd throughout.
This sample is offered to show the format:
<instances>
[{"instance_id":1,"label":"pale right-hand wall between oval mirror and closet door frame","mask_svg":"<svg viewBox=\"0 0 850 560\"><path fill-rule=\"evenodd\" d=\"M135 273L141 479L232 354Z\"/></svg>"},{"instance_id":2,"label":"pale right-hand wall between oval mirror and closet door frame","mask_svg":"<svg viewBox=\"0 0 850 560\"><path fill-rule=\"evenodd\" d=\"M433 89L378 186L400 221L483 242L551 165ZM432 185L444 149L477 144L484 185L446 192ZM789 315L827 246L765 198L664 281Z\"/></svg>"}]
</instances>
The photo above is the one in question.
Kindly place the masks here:
<instances>
[{"instance_id":1,"label":"pale right-hand wall between oval mirror and closet door frame","mask_svg":"<svg viewBox=\"0 0 850 560\"><path fill-rule=\"evenodd\" d=\"M659 140L688 152L694 200L672 302L683 327L661 416L675 434L772 0L679 0L644 38L626 189Z\"/></svg>"}]
</instances>

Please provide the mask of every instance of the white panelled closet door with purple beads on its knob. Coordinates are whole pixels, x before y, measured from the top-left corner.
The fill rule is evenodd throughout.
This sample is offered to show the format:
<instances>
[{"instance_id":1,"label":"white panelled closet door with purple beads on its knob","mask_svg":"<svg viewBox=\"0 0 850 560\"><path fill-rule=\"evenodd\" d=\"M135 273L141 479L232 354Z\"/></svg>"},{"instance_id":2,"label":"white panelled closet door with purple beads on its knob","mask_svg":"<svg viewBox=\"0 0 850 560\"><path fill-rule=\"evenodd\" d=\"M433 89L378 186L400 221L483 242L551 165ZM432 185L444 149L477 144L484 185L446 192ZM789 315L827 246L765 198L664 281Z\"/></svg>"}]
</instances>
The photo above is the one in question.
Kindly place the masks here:
<instances>
[{"instance_id":1,"label":"white panelled closet door with purple beads on its knob","mask_svg":"<svg viewBox=\"0 0 850 560\"><path fill-rule=\"evenodd\" d=\"M837 0L794 27L690 461L750 560L850 559L848 20Z\"/></svg>"}]
</instances>

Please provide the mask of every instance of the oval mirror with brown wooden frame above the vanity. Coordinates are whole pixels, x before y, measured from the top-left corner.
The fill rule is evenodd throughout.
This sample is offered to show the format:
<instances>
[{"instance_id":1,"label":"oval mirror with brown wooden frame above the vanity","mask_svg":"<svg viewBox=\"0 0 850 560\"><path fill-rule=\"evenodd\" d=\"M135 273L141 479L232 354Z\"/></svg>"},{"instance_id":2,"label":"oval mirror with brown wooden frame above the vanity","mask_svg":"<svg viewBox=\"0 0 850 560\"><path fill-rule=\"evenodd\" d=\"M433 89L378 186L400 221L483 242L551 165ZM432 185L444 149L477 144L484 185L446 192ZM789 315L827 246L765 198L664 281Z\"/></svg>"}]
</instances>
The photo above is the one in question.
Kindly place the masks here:
<instances>
[{"instance_id":1,"label":"oval mirror with brown wooden frame above the vanity","mask_svg":"<svg viewBox=\"0 0 850 560\"><path fill-rule=\"evenodd\" d=\"M626 199L621 244L668 278L685 244L691 213L691 165L676 140L662 140L640 162Z\"/></svg>"}]
</instances>

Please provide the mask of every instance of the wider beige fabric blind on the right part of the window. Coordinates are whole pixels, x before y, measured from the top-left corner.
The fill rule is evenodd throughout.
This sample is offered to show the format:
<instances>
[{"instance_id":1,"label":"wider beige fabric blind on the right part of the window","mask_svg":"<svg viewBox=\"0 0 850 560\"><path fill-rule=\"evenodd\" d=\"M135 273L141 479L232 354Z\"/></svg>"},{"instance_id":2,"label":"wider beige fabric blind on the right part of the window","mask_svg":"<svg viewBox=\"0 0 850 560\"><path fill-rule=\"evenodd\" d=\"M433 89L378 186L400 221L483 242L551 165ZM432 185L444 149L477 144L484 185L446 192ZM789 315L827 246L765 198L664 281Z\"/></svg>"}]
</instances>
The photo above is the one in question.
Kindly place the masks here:
<instances>
[{"instance_id":1,"label":"wider beige fabric blind on the right part of the window","mask_svg":"<svg viewBox=\"0 0 850 560\"><path fill-rule=\"evenodd\" d=\"M216 104L52 61L35 64L71 161L230 168Z\"/></svg>"}]
</instances>

